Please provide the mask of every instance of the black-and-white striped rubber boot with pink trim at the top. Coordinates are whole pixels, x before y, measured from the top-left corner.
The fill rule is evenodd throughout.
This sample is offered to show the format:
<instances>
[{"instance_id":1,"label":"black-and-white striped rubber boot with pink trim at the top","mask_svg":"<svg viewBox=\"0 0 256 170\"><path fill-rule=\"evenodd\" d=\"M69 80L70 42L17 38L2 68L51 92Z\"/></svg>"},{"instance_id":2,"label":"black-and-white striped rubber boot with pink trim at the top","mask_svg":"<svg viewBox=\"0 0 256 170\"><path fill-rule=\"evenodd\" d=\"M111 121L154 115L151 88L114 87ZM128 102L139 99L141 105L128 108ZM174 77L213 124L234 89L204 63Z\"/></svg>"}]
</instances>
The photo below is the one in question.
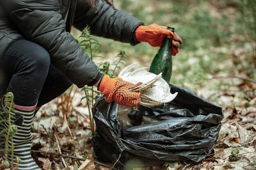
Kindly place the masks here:
<instances>
[{"instance_id":1,"label":"black-and-white striped rubber boot with pink trim at the top","mask_svg":"<svg viewBox=\"0 0 256 170\"><path fill-rule=\"evenodd\" d=\"M8 108L7 108L8 109ZM11 113L11 123L17 126L17 132L13 135L14 157L19 157L21 163L18 164L18 170L41 170L31 157L31 124L33 122L36 106L25 107L16 105L15 113ZM9 128L7 122L4 123L5 128ZM7 134L7 133L5 133ZM8 147L11 148L11 141L8 141ZM5 156L3 159L6 160ZM8 153L7 161L11 163L11 153ZM16 163L16 159L14 159ZM16 163L17 164L17 163Z\"/></svg>"}]
</instances>

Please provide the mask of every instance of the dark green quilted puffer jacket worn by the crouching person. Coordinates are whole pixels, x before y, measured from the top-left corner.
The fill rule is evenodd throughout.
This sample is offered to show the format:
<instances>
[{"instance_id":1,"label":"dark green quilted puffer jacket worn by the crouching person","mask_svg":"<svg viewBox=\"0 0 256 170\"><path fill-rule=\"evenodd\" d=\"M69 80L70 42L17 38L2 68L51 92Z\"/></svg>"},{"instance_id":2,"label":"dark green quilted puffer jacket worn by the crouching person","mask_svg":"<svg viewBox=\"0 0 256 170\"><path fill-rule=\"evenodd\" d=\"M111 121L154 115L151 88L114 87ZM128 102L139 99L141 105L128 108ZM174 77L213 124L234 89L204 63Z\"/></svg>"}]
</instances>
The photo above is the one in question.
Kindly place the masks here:
<instances>
[{"instance_id":1,"label":"dark green quilted puffer jacket worn by the crouching person","mask_svg":"<svg viewBox=\"0 0 256 170\"><path fill-rule=\"evenodd\" d=\"M71 26L82 31L88 24L93 35L135 45L135 29L143 24L102 0L96 3L97 9L83 0L1 0L0 62L8 47L23 38L43 46L52 64L79 88L95 84L101 73L69 33Z\"/></svg>"}]
</instances>

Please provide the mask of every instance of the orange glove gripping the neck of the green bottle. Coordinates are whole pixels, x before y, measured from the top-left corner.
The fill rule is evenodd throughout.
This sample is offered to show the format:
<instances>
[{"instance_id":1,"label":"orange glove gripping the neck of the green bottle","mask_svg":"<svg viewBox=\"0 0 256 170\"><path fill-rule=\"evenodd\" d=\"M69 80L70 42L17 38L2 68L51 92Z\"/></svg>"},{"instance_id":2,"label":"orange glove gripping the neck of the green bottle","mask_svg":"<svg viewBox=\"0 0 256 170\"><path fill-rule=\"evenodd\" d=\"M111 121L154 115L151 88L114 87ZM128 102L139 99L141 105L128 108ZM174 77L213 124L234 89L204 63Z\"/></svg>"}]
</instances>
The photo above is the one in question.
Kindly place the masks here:
<instances>
[{"instance_id":1,"label":"orange glove gripping the neck of the green bottle","mask_svg":"<svg viewBox=\"0 0 256 170\"><path fill-rule=\"evenodd\" d=\"M148 42L151 46L159 47L162 45L164 37L173 38L173 56L178 53L178 48L182 44L182 40L177 33L168 30L167 26L159 26L157 24L139 26L135 31L135 37L139 42Z\"/></svg>"}]
</instances>

